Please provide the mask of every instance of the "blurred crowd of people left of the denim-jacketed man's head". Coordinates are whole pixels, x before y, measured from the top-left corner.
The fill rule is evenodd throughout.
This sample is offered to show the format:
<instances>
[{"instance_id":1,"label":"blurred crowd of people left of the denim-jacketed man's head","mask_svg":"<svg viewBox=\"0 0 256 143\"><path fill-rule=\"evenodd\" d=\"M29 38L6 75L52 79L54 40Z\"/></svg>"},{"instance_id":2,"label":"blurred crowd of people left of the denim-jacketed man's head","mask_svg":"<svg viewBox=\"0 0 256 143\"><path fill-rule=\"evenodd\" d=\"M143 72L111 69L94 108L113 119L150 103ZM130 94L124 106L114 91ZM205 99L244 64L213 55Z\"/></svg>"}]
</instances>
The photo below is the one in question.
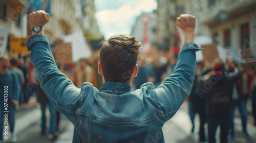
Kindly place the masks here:
<instances>
[{"instance_id":1,"label":"blurred crowd of people left of the denim-jacketed man's head","mask_svg":"<svg viewBox=\"0 0 256 143\"><path fill-rule=\"evenodd\" d=\"M83 82L91 82L96 86L96 72L92 66L88 65L86 59L80 59L78 66L75 68L73 68L73 64L58 65L62 73L66 74L77 87L81 87ZM44 90L42 90L38 84L38 81L35 77L34 67L30 61L30 58L28 56L24 56L23 58L9 58L8 56L3 56L0 58L0 71L1 89L4 89L4 86L8 86L8 96L13 96L9 99L15 99L8 99L7 102L9 105L8 121L10 122L11 141L17 141L16 133L14 131L16 110L27 109L37 102L40 104L41 109L41 135L47 134L46 107L48 106L50 112L48 138L50 140L56 139L58 137L57 131L59 126L60 113L55 109L55 107L46 96ZM30 100L30 97L34 95L36 95L36 100ZM4 102L4 100L1 100L1 102ZM3 119L1 118L0 120L2 121ZM0 124L0 127L2 128L3 122L0 122ZM1 129L0 140L3 140L2 135L3 130Z\"/></svg>"}]
</instances>

